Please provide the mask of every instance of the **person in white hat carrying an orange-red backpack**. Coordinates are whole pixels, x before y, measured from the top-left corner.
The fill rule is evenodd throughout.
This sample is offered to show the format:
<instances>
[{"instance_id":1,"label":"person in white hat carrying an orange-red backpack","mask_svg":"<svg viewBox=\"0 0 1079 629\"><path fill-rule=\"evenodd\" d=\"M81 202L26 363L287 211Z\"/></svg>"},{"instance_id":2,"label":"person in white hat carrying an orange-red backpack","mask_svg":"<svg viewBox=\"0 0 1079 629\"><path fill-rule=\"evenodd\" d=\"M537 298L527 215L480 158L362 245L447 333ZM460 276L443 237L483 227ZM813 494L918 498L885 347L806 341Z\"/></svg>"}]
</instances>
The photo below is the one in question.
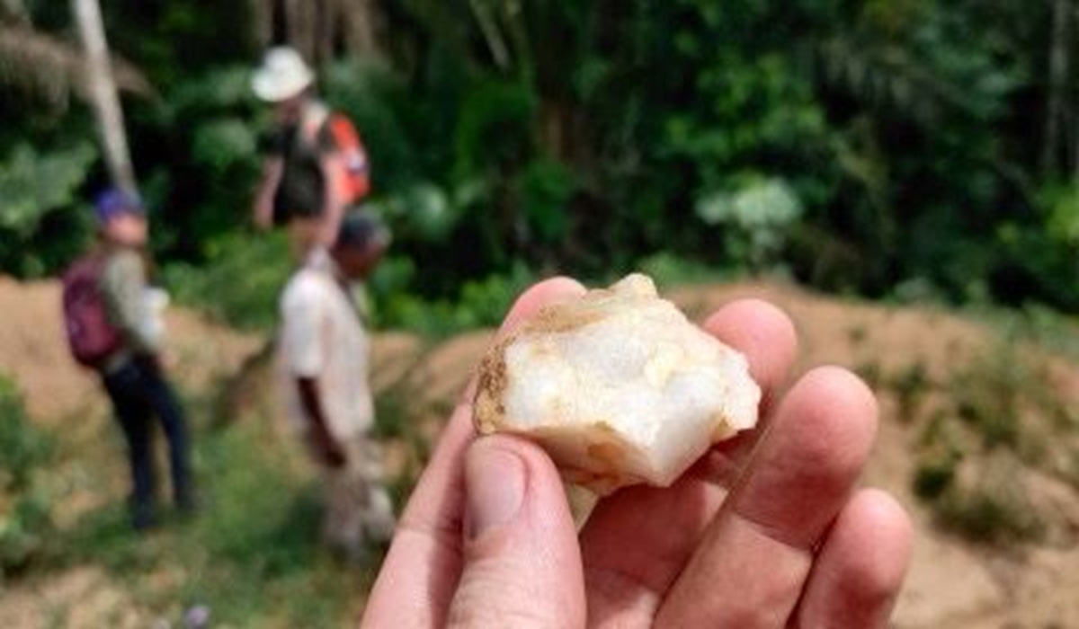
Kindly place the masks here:
<instances>
[{"instance_id":1,"label":"person in white hat carrying an orange-red backpack","mask_svg":"<svg viewBox=\"0 0 1079 629\"><path fill-rule=\"evenodd\" d=\"M293 252L330 246L345 208L369 192L367 151L352 122L314 95L315 74L288 46L269 50L251 78L273 107L274 129L255 195L254 221L287 225Z\"/></svg>"}]
</instances>

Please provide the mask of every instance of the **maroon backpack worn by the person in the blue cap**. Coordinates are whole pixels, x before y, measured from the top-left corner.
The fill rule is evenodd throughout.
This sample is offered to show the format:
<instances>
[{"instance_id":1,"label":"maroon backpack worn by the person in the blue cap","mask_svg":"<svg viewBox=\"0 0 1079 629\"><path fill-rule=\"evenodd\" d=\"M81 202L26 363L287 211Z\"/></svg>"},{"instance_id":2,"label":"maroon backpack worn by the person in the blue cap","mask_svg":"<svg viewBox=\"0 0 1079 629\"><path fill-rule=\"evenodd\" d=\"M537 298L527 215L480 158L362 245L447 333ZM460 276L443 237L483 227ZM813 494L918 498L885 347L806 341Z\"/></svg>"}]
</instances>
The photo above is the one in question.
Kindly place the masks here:
<instances>
[{"instance_id":1,"label":"maroon backpack worn by the person in the blue cap","mask_svg":"<svg viewBox=\"0 0 1079 629\"><path fill-rule=\"evenodd\" d=\"M64 326L71 356L84 367L99 367L120 350L123 337L109 323L101 295L105 258L87 255L64 273Z\"/></svg>"}]
</instances>

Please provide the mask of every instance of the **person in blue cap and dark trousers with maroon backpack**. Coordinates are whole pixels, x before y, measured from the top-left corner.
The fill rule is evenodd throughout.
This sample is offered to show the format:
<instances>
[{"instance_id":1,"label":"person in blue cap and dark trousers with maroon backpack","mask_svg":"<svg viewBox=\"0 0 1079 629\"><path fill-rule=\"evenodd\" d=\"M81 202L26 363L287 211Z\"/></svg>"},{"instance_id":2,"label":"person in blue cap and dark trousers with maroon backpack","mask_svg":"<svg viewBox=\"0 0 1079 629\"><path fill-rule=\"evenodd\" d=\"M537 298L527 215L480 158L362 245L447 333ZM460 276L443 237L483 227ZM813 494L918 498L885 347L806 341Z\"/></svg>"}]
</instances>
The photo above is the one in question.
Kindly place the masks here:
<instances>
[{"instance_id":1,"label":"person in blue cap and dark trousers with maroon backpack","mask_svg":"<svg viewBox=\"0 0 1079 629\"><path fill-rule=\"evenodd\" d=\"M167 293L149 284L141 201L106 190L94 214L98 244L65 273L65 323L74 357L99 373L123 430L132 524L144 530L156 523L153 418L168 442L176 506L183 512L195 507L187 419L161 361Z\"/></svg>"}]
</instances>

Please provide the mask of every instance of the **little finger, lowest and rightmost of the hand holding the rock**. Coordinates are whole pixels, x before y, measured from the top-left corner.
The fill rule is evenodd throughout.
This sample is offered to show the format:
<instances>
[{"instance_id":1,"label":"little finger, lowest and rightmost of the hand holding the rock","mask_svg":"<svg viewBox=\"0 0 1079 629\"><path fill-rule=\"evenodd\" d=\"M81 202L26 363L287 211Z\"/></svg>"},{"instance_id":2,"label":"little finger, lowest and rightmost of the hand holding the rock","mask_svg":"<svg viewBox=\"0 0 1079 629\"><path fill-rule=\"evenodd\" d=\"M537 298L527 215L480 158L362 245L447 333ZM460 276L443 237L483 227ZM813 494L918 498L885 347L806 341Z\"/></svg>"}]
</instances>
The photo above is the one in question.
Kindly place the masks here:
<instances>
[{"instance_id":1,"label":"little finger, lowest and rightmost of the hand holding the rock","mask_svg":"<svg viewBox=\"0 0 1079 629\"><path fill-rule=\"evenodd\" d=\"M887 627L911 557L911 520L888 494L862 490L818 553L798 627Z\"/></svg>"}]
</instances>

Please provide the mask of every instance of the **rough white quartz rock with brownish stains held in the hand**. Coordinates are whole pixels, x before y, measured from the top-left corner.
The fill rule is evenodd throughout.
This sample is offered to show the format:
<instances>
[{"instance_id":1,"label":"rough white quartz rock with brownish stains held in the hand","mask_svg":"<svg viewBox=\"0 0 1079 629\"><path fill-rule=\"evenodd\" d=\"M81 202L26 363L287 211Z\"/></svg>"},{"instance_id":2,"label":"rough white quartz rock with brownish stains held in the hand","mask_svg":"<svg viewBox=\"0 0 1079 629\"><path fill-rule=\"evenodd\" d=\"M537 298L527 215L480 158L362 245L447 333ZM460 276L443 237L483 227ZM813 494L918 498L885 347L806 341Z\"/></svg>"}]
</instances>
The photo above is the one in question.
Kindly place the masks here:
<instances>
[{"instance_id":1,"label":"rough white quartz rock with brownish stains held in the hand","mask_svg":"<svg viewBox=\"0 0 1079 629\"><path fill-rule=\"evenodd\" d=\"M753 427L760 399L745 356L629 275L492 346L475 422L535 440L569 480L606 494L671 484L712 443Z\"/></svg>"}]
</instances>

